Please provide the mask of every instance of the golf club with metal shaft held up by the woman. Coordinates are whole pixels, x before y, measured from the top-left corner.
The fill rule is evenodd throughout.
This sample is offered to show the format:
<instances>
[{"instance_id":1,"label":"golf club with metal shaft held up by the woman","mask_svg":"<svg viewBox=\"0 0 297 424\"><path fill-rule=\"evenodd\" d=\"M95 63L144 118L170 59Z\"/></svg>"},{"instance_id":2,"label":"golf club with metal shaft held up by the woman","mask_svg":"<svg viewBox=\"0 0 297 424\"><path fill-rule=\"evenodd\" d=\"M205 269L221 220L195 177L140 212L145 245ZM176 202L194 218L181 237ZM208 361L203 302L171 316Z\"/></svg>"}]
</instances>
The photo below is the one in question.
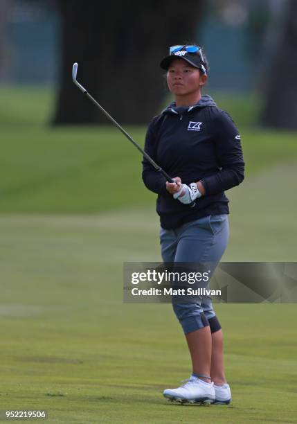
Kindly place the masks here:
<instances>
[{"instance_id":1,"label":"golf club with metal shaft held up by the woman","mask_svg":"<svg viewBox=\"0 0 297 424\"><path fill-rule=\"evenodd\" d=\"M109 121L111 121L111 123L113 123L114 125L116 125L116 127L118 127L118 129L120 130L120 132L122 132L129 141L131 141L132 144L134 144L134 146L136 147L136 149L139 150L139 152L141 152L143 154L143 156L145 157L145 159L147 159L147 161L150 162L150 164L152 166L154 166L155 170L157 170L159 173L161 173L163 175L163 177L165 177L165 179L170 182L170 183L174 183L174 179L172 179L167 173L165 173L165 170L163 170L159 165L156 164L156 162L141 148L140 145L138 145L138 143L136 143L136 141L134 141L134 139L132 139L132 136L130 136L115 120L114 118L112 118L112 116L109 115L109 113L106 112L105 109L103 109L103 107L101 105L99 105L99 103L91 96L91 94L88 93L88 91L82 87L82 85L78 82L78 80L76 79L76 76L78 74L78 64L75 62L73 63L73 68L72 68L72 79L74 84L82 91L82 93L86 94L86 96L94 103L94 105L96 105L97 107L99 107L100 111L105 114L105 116L109 119ZM190 204L191 207L195 206L195 202L192 202Z\"/></svg>"}]
</instances>

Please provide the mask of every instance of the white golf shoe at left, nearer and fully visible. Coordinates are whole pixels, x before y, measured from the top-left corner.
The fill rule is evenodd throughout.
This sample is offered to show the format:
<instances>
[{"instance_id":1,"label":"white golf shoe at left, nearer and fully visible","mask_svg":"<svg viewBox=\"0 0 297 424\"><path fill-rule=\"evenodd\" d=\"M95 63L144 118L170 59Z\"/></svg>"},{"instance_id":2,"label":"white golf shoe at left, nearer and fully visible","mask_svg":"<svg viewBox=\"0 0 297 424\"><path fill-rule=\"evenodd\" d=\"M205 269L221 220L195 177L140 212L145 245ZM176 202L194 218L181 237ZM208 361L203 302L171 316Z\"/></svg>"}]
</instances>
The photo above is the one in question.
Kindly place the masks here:
<instances>
[{"instance_id":1,"label":"white golf shoe at left, nearer and fully visible","mask_svg":"<svg viewBox=\"0 0 297 424\"><path fill-rule=\"evenodd\" d=\"M190 376L177 389L166 389L163 396L178 403L214 403L215 387L213 382L207 383L195 376Z\"/></svg>"}]
</instances>

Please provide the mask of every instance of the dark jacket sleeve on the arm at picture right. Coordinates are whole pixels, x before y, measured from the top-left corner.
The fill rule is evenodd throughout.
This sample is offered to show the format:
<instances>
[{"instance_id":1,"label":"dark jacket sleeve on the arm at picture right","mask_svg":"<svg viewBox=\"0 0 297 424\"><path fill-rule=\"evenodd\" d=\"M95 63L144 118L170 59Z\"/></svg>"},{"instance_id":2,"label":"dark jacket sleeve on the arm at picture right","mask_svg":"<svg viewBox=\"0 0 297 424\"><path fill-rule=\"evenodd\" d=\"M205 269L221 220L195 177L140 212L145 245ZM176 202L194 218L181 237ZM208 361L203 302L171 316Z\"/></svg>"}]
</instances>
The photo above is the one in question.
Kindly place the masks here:
<instances>
[{"instance_id":1,"label":"dark jacket sleeve on the arm at picture right","mask_svg":"<svg viewBox=\"0 0 297 424\"><path fill-rule=\"evenodd\" d=\"M206 195L214 195L238 186L244 180L244 159L240 134L231 117L219 112L211 123L215 154L220 170L215 175L204 177Z\"/></svg>"}]
</instances>

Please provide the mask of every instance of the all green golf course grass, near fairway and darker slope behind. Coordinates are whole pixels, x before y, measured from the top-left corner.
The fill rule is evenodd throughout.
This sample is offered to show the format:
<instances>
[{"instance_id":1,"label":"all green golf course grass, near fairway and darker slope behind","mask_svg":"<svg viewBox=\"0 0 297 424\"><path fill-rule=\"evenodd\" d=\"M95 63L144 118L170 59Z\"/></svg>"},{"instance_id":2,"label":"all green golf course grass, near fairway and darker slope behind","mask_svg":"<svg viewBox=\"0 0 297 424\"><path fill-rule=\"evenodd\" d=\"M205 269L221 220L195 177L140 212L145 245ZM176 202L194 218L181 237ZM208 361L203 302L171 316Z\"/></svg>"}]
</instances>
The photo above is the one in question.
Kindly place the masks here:
<instances>
[{"instance_id":1,"label":"all green golf course grass, near fairway and darker slope behind","mask_svg":"<svg viewBox=\"0 0 297 424\"><path fill-rule=\"evenodd\" d=\"M161 260L139 153L111 127L46 126L51 89L0 91L0 409L45 409L49 423L295 423L294 303L215 305L231 405L163 398L190 376L182 330L170 305L122 300L123 262ZM296 133L252 128L253 103L221 98L246 161L226 193L222 260L296 261ZM144 127L125 129L143 145Z\"/></svg>"}]
</instances>

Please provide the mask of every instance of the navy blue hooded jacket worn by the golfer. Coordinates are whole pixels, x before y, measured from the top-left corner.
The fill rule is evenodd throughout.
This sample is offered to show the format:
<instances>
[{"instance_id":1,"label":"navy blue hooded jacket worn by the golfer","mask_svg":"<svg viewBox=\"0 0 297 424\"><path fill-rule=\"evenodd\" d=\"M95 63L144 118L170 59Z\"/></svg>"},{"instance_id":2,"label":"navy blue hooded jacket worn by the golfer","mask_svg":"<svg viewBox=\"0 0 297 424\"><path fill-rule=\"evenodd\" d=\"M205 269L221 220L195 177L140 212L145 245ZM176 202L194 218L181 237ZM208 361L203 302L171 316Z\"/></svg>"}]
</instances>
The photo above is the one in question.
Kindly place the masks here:
<instances>
[{"instance_id":1,"label":"navy blue hooded jacket worn by the golfer","mask_svg":"<svg viewBox=\"0 0 297 424\"><path fill-rule=\"evenodd\" d=\"M145 152L170 177L183 184L201 180L206 194L195 207L175 200L165 188L165 177L143 159L143 182L158 194L156 211L161 227L175 229L206 215L229 213L224 191L244 179L240 135L227 112L210 96L191 107L169 105L154 116L145 137Z\"/></svg>"}]
</instances>

